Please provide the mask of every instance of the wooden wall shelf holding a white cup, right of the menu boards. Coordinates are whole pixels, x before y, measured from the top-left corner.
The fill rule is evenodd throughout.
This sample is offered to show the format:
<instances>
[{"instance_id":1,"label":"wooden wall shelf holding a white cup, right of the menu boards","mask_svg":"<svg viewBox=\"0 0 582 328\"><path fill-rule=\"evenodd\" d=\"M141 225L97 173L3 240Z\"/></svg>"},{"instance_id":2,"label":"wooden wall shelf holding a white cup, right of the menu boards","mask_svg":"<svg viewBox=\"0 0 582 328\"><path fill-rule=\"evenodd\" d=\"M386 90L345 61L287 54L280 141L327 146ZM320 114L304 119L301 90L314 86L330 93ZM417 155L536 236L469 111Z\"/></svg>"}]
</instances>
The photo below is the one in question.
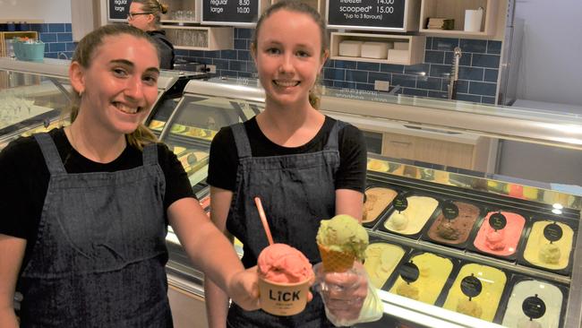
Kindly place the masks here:
<instances>
[{"instance_id":1,"label":"wooden wall shelf holding a white cup, right of the menu boards","mask_svg":"<svg viewBox=\"0 0 582 328\"><path fill-rule=\"evenodd\" d=\"M467 9L484 8L484 16L480 31L465 31L465 11ZM500 25L500 15L507 7L507 0L423 0L420 12L419 32L423 34L441 35L444 37L491 37L496 34ZM455 20L454 30L431 30L426 28L431 17L451 18ZM502 24L503 20L501 20Z\"/></svg>"}]
</instances>

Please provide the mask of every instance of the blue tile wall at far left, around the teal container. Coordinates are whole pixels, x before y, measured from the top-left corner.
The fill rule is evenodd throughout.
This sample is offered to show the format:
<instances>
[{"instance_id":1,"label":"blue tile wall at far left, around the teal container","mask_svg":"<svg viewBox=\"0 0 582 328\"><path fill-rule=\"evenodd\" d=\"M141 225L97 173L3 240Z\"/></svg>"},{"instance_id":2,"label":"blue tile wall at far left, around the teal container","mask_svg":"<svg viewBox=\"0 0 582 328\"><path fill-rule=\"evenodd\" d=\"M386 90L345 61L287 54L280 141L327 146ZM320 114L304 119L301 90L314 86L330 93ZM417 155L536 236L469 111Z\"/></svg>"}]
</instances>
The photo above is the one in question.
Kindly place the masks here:
<instances>
[{"instance_id":1,"label":"blue tile wall at far left, around the teal container","mask_svg":"<svg viewBox=\"0 0 582 328\"><path fill-rule=\"evenodd\" d=\"M0 24L0 30L8 30L8 24ZM77 44L73 42L71 23L45 23L45 24L21 24L19 30L36 30L39 32L39 39L45 43L45 57L60 58L66 56L71 59Z\"/></svg>"}]
</instances>

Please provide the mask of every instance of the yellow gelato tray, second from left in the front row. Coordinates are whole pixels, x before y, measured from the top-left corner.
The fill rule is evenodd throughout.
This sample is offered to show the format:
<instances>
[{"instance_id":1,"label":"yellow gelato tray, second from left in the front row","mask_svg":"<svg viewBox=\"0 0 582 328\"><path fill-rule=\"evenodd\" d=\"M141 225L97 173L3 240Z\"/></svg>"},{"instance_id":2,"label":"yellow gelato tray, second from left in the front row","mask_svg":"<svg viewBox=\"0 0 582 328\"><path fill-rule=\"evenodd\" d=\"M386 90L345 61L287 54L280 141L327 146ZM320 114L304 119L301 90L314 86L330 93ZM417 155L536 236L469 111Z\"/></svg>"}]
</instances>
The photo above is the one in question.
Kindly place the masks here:
<instances>
[{"instance_id":1,"label":"yellow gelato tray, second from left in the front row","mask_svg":"<svg viewBox=\"0 0 582 328\"><path fill-rule=\"evenodd\" d=\"M414 264L414 265L412 265ZM400 265L395 281L389 292L412 298L427 304L436 305L443 290L448 289L449 277L454 272L458 260L429 252L415 252ZM407 277L410 269L417 271ZM403 269L403 270L401 270Z\"/></svg>"}]
</instances>

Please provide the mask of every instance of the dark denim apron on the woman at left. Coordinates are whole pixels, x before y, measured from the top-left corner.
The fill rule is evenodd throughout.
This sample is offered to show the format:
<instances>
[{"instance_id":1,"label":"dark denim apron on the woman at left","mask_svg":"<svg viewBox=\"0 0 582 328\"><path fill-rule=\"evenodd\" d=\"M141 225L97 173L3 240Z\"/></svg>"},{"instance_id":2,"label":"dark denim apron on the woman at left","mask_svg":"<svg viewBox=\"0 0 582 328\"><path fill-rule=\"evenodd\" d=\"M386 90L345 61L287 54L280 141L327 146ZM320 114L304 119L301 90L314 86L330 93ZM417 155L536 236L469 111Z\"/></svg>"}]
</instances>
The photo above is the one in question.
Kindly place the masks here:
<instances>
[{"instance_id":1,"label":"dark denim apron on the woman at left","mask_svg":"<svg viewBox=\"0 0 582 328\"><path fill-rule=\"evenodd\" d=\"M50 135L34 136L50 181L21 274L21 326L171 327L156 144L141 167L67 174Z\"/></svg>"}]
</instances>

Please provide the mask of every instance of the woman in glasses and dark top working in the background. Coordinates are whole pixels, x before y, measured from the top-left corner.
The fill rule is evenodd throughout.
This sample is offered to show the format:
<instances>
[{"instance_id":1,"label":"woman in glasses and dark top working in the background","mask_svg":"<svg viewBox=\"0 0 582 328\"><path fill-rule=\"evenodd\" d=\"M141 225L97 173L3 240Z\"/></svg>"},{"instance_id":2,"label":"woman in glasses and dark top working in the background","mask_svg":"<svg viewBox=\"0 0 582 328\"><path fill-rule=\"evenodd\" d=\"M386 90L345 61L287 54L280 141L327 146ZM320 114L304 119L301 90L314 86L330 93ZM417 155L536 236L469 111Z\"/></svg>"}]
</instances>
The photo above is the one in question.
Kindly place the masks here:
<instances>
[{"instance_id":1,"label":"woman in glasses and dark top working in the background","mask_svg":"<svg viewBox=\"0 0 582 328\"><path fill-rule=\"evenodd\" d=\"M158 0L132 0L129 5L127 22L133 27L145 30L156 40L159 49L159 67L166 70L174 69L174 46L166 37L165 30L159 30L159 20L162 13L167 13L167 4Z\"/></svg>"}]
</instances>

